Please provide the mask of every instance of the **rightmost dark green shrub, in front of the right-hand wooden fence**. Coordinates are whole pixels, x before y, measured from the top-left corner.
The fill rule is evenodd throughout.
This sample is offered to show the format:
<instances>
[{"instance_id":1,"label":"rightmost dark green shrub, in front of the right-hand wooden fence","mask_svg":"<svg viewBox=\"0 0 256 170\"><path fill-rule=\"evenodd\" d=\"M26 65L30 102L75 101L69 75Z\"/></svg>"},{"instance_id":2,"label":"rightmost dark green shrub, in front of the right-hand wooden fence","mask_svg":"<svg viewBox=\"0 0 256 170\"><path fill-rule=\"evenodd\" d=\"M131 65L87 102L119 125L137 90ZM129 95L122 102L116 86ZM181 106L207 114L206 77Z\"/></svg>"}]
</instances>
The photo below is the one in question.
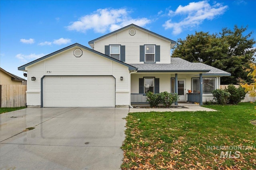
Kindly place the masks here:
<instances>
[{"instance_id":1,"label":"rightmost dark green shrub, in front of the right-hand wooden fence","mask_svg":"<svg viewBox=\"0 0 256 170\"><path fill-rule=\"evenodd\" d=\"M230 93L230 96L228 97L229 104L238 104L246 95L244 88L241 86L236 88L233 84L230 84L226 90Z\"/></svg>"}]
</instances>

